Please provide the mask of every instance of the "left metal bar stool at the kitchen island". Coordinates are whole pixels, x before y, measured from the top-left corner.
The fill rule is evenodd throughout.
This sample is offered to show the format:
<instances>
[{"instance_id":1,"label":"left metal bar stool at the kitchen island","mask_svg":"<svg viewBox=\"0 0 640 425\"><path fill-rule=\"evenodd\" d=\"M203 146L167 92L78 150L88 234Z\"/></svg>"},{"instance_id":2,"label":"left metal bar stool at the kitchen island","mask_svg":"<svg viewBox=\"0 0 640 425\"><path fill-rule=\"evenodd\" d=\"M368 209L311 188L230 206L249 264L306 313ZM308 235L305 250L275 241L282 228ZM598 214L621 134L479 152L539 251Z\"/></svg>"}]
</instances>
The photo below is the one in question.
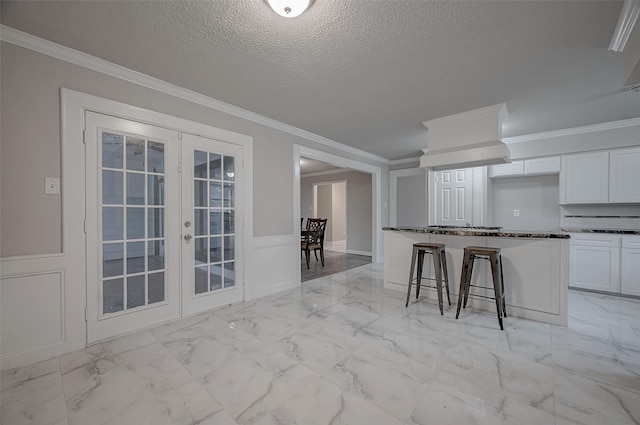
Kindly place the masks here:
<instances>
[{"instance_id":1,"label":"left metal bar stool at the kitchen island","mask_svg":"<svg viewBox=\"0 0 640 425\"><path fill-rule=\"evenodd\" d=\"M431 254L433 257L433 267L435 278L423 277L422 269L424 267L424 255ZM418 270L416 277L413 277L413 273L416 266L416 257L418 257ZM407 290L407 302L405 307L409 306L409 298L411 298L411 284L416 281L416 299L420 295L420 284L423 279L435 280L436 286L426 286L427 288L435 288L438 292L438 305L440 306L440 314L444 314L442 308L442 275L444 274L444 287L447 289L447 301L451 305L451 298L449 297L449 274L447 272L447 258L445 256L444 244L441 243L414 243L413 254L411 255L411 269L409 270L409 288Z\"/></svg>"}]
</instances>

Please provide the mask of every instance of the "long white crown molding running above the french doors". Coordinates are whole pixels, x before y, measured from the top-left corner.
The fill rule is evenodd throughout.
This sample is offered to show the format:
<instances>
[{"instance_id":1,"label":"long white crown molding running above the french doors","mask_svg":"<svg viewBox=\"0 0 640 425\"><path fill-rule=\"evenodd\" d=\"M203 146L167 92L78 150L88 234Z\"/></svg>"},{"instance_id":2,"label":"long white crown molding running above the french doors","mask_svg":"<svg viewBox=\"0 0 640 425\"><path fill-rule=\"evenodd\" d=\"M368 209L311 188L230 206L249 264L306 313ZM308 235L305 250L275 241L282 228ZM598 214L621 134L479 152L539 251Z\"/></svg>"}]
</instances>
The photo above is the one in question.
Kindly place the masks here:
<instances>
[{"instance_id":1,"label":"long white crown molding running above the french doors","mask_svg":"<svg viewBox=\"0 0 640 425\"><path fill-rule=\"evenodd\" d=\"M306 130L294 127L292 125L265 117L264 115L256 114L246 109L222 102L209 96L205 96L193 90L185 89L175 84L171 84L158 78L151 77L147 74L133 71L129 68L116 65L104 59L100 59L87 53L83 53L78 50L56 44L52 41L36 37L34 35L16 30L6 25L0 25L0 40L19 47L23 47L25 49L32 50L34 52L41 53L43 55L51 56L65 62L72 63L74 65L91 69L93 71L109 75L111 77L128 81L139 86L156 90L170 96L184 99L198 105L206 106L208 108L215 109L217 111L224 112L238 118L243 118L256 124L264 125L275 130L280 130L294 136L302 137L306 140L310 140L321 145L337 149L341 152L357 155L361 158L366 158L378 163L386 165L389 164L388 159L378 155L374 155L370 152L344 145L334 140L327 139L326 137L322 137Z\"/></svg>"}]
</instances>

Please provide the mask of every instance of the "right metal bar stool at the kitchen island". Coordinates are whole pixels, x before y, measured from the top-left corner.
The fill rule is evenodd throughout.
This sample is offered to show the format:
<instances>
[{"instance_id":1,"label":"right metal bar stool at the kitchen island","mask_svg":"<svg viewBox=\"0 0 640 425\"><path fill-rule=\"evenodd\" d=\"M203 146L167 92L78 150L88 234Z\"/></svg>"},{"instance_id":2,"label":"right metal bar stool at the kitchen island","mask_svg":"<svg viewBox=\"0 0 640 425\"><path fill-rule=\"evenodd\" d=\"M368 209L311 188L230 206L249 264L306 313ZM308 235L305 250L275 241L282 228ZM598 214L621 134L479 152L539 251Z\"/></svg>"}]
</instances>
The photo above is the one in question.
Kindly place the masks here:
<instances>
[{"instance_id":1,"label":"right metal bar stool at the kitchen island","mask_svg":"<svg viewBox=\"0 0 640 425\"><path fill-rule=\"evenodd\" d=\"M471 284L473 262L475 259L488 260L491 263L493 288ZM502 255L500 254L500 248L468 246L464 249L464 259L462 262L462 276L460 277L460 292L458 294L458 310L456 312L456 319L460 315L460 307L467 307L467 300L469 299L469 289L472 286L476 288L493 289L493 297L480 294L471 294L471 296L496 301L498 323L500 323L500 329L504 330L504 327L502 326L502 317L507 317L507 304L504 297L504 277L502 274Z\"/></svg>"}]
</instances>

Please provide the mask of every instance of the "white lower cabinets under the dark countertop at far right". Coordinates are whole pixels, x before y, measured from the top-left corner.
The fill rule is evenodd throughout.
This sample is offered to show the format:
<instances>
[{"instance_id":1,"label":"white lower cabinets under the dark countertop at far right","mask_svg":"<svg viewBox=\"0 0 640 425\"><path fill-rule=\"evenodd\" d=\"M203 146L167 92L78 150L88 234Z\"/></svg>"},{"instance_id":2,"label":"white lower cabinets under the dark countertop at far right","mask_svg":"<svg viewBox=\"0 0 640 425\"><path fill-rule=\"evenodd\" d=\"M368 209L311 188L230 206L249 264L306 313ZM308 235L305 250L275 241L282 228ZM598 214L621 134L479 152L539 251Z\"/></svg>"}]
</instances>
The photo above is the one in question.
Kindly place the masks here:
<instances>
[{"instance_id":1,"label":"white lower cabinets under the dark countertop at far right","mask_svg":"<svg viewBox=\"0 0 640 425\"><path fill-rule=\"evenodd\" d=\"M569 286L640 296L640 236L574 233Z\"/></svg>"}]
</instances>

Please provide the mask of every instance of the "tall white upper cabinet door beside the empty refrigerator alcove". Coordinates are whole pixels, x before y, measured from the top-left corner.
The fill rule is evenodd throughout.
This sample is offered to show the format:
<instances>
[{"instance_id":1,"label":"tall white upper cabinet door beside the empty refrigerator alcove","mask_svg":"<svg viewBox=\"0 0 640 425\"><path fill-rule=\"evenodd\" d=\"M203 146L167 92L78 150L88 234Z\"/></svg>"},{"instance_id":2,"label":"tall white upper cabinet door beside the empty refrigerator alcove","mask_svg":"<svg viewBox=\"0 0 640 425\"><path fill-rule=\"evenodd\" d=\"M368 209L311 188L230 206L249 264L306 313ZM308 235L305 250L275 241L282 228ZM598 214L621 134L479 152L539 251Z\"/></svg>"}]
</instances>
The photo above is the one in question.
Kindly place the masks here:
<instances>
[{"instance_id":1,"label":"tall white upper cabinet door beside the empty refrigerator alcove","mask_svg":"<svg viewBox=\"0 0 640 425\"><path fill-rule=\"evenodd\" d=\"M606 204L609 201L609 152L565 157L566 204Z\"/></svg>"}]
</instances>

